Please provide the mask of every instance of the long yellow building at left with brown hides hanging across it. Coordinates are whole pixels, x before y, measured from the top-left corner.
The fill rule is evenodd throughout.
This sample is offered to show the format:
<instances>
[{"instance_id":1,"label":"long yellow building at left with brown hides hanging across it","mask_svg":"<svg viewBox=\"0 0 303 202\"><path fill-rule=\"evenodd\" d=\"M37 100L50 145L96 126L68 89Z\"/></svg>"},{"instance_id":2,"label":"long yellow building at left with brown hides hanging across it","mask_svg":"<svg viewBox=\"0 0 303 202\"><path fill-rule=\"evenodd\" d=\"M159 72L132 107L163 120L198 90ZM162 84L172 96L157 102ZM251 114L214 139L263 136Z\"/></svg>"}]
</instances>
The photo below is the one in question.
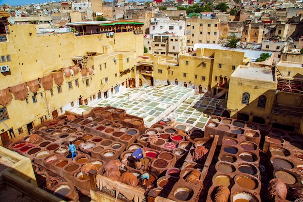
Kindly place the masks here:
<instances>
[{"instance_id":1,"label":"long yellow building at left with brown hides hanging across it","mask_svg":"<svg viewBox=\"0 0 303 202\"><path fill-rule=\"evenodd\" d=\"M8 31L0 33L4 146L65 110L136 85L132 69L143 55L143 35L37 34L34 25L7 25L1 16L1 30Z\"/></svg>"}]
</instances>

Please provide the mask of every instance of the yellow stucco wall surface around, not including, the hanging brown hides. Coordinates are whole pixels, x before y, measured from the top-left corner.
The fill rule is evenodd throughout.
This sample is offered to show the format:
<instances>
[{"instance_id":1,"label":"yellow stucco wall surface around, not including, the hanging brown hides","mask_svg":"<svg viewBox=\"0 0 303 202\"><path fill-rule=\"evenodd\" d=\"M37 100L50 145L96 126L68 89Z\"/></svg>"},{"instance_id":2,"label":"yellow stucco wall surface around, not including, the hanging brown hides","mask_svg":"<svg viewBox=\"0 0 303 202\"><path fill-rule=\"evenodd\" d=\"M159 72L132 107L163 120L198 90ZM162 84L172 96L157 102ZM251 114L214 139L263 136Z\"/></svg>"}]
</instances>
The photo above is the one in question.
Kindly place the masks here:
<instances>
[{"instance_id":1,"label":"yellow stucco wall surface around, not including, the hanging brown hides","mask_svg":"<svg viewBox=\"0 0 303 202\"><path fill-rule=\"evenodd\" d=\"M18 128L24 131L21 136L26 136L27 124L33 122L34 126L38 126L41 124L40 118L43 117L44 121L45 117L47 120L52 118L54 110L59 115L64 113L64 110L71 109L72 102L76 106L79 98L90 101L95 99L92 98L93 95L111 92L110 89L116 85L125 88L125 82L134 75L128 72L120 77L119 71L134 67L136 57L143 55L143 35L134 35L133 32L115 33L114 36L106 37L106 34L37 34L34 25L12 25L9 30L11 34L7 35L8 42L1 43L0 56L10 55L11 61L2 62L1 65L9 65L11 71L8 75L0 74L0 89L42 78L53 71L61 71L61 68L74 65L74 56L86 56L87 52L97 53L96 56L89 57L87 63L88 67L93 66L95 74L88 75L87 78L82 78L81 73L69 78L63 76L62 93L58 93L58 85L53 81L53 95L41 86L36 94L36 103L33 103L32 92L28 95L28 103L13 97L12 102L6 105L9 119L0 122L0 129L6 131L13 128L17 138L20 136ZM117 59L116 64L114 58ZM105 84L106 77L108 82ZM86 85L86 80L89 85ZM69 88L68 82L71 82L72 88Z\"/></svg>"}]
</instances>

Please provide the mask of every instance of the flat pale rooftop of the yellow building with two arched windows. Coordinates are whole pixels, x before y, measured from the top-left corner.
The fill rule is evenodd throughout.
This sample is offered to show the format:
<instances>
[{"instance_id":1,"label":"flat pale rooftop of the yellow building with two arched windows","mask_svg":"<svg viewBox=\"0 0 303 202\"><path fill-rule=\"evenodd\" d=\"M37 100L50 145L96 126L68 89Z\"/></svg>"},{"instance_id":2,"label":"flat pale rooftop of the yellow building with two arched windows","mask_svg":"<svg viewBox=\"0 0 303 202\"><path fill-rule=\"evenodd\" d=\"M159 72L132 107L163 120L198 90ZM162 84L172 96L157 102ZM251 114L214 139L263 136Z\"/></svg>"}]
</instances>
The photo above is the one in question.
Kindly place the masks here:
<instances>
[{"instance_id":1,"label":"flat pale rooftop of the yellow building with two arched windows","mask_svg":"<svg viewBox=\"0 0 303 202\"><path fill-rule=\"evenodd\" d=\"M237 68L234 73L232 73L232 76L254 80L274 81L272 70L259 66L241 65L240 68Z\"/></svg>"}]
</instances>

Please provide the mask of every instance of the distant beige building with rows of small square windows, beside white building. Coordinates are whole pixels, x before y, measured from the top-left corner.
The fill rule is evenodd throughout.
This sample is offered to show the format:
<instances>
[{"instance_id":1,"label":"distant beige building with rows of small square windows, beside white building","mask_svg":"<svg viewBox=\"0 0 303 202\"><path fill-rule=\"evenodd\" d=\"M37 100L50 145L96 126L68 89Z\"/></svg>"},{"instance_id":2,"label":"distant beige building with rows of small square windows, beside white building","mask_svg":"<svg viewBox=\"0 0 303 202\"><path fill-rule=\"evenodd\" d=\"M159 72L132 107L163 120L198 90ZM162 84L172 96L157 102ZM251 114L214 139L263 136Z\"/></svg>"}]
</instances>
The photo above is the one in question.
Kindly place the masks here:
<instances>
[{"instance_id":1,"label":"distant beige building with rows of small square windows, beside white building","mask_svg":"<svg viewBox=\"0 0 303 202\"><path fill-rule=\"evenodd\" d=\"M196 43L217 44L219 40L220 20L213 18L192 18L185 19L185 34L187 46L194 46Z\"/></svg>"}]
</instances>

